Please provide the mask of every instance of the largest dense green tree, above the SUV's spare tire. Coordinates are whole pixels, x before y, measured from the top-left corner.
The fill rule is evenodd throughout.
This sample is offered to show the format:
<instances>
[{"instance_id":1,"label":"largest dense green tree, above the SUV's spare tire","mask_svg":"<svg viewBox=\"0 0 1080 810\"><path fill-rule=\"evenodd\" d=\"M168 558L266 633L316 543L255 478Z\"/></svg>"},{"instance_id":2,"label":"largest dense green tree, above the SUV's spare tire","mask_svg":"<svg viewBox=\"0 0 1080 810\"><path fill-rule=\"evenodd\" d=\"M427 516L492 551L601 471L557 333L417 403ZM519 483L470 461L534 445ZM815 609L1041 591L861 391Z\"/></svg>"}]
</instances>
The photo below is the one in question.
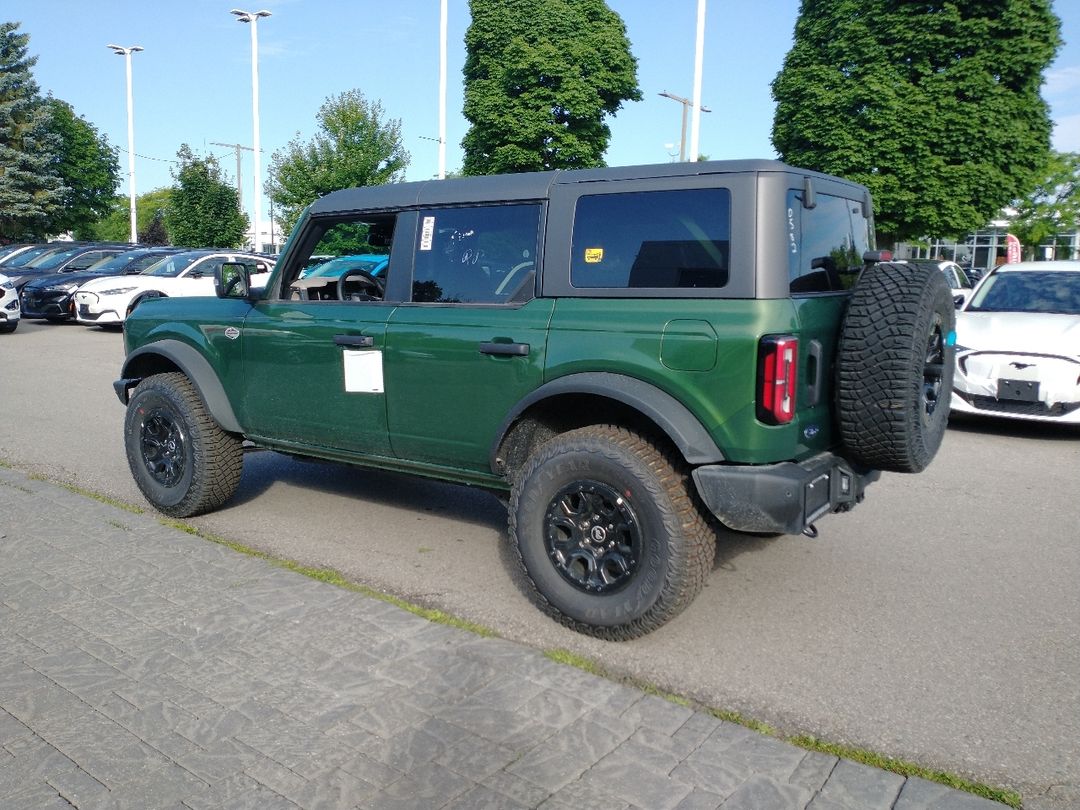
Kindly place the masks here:
<instances>
[{"instance_id":1,"label":"largest dense green tree, above the SUV's spare tire","mask_svg":"<svg viewBox=\"0 0 1080 810\"><path fill-rule=\"evenodd\" d=\"M773 146L868 186L883 239L981 228L1045 163L1059 27L1051 0L802 0Z\"/></svg>"}]
</instances>

